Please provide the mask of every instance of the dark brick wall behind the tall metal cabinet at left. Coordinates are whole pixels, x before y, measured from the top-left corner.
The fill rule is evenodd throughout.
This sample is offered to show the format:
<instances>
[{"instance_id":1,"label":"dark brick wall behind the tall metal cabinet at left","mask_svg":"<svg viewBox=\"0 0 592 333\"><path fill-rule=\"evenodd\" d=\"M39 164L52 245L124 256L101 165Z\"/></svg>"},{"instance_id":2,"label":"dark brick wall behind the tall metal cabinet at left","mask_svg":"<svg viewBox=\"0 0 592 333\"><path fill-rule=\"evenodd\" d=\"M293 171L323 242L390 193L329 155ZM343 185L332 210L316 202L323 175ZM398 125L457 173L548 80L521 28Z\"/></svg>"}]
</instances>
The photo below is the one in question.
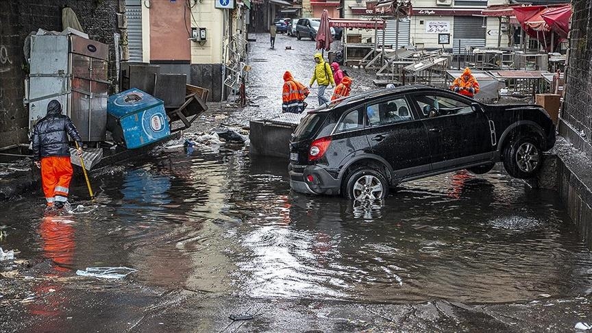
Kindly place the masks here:
<instances>
[{"instance_id":1,"label":"dark brick wall behind the tall metal cabinet at left","mask_svg":"<svg viewBox=\"0 0 592 333\"><path fill-rule=\"evenodd\" d=\"M23 106L23 45L25 37L42 28L62 30L62 8L69 5L90 39L109 45L109 77L116 86L115 47L119 0L1 0L0 1L0 147L27 143L28 111Z\"/></svg>"}]
</instances>

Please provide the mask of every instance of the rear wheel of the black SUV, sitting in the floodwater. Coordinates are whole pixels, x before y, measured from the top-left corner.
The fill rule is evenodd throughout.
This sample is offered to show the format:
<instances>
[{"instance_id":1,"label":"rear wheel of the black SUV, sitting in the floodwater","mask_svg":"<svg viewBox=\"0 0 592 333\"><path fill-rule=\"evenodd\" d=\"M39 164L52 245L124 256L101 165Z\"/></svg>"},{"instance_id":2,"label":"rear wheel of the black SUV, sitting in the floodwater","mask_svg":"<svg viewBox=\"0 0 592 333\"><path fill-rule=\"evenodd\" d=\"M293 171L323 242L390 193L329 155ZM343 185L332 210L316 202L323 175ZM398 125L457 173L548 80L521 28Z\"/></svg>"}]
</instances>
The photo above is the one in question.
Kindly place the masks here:
<instances>
[{"instance_id":1,"label":"rear wheel of the black SUV, sitting in the floodwater","mask_svg":"<svg viewBox=\"0 0 592 333\"><path fill-rule=\"evenodd\" d=\"M388 182L380 171L365 167L347 177L344 190L343 196L348 199L384 199L388 195Z\"/></svg>"}]
</instances>

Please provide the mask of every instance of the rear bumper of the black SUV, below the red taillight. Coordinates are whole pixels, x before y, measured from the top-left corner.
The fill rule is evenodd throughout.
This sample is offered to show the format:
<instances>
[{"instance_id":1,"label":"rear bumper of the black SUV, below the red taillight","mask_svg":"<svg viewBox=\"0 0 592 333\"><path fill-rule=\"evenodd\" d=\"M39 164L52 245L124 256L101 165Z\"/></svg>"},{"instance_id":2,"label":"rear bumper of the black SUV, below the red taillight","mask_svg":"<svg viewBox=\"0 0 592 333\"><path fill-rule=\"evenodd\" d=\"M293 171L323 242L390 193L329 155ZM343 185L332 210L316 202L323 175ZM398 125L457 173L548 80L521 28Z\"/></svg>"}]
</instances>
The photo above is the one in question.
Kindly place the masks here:
<instances>
[{"instance_id":1,"label":"rear bumper of the black SUV, below the red taillight","mask_svg":"<svg viewBox=\"0 0 592 333\"><path fill-rule=\"evenodd\" d=\"M289 167L290 188L296 192L313 195L338 195L341 192L341 181L336 180L325 169L316 165L303 167L293 167L292 164ZM312 175L312 182L306 180L308 175Z\"/></svg>"}]
</instances>

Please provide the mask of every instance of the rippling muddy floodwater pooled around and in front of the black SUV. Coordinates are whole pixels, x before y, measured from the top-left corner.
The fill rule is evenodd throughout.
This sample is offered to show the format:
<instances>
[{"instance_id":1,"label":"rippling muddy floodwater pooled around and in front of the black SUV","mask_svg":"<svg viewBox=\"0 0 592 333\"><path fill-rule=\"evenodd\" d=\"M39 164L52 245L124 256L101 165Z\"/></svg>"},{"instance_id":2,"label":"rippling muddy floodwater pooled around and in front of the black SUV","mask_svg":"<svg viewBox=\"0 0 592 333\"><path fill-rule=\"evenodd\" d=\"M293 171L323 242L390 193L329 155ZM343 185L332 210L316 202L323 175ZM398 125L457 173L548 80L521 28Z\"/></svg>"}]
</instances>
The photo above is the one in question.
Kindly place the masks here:
<instances>
[{"instance_id":1,"label":"rippling muddy floodwater pooled around and in front of the black SUV","mask_svg":"<svg viewBox=\"0 0 592 333\"><path fill-rule=\"evenodd\" d=\"M506 302L592 284L592 256L556 194L502 171L431 177L382 205L354 204L290 193L285 162L231 147L169 153L95 186L87 214L42 218L40 199L12 202L0 246L58 275L125 266L141 284L250 297Z\"/></svg>"}]
</instances>

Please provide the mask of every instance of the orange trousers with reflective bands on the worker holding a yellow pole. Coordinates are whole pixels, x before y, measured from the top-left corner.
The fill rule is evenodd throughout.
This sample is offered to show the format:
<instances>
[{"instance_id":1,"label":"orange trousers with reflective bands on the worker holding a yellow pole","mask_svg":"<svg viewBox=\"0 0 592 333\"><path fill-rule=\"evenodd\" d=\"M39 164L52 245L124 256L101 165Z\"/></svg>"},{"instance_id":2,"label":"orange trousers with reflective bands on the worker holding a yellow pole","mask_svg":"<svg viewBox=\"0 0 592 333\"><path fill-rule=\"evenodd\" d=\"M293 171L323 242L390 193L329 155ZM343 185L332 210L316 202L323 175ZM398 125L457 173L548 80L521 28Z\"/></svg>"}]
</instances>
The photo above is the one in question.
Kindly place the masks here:
<instances>
[{"instance_id":1,"label":"orange trousers with reflective bands on the worker holding a yellow pole","mask_svg":"<svg viewBox=\"0 0 592 333\"><path fill-rule=\"evenodd\" d=\"M72 180L72 164L66 156L41 158L41 183L47 206L53 201L66 202Z\"/></svg>"}]
</instances>

